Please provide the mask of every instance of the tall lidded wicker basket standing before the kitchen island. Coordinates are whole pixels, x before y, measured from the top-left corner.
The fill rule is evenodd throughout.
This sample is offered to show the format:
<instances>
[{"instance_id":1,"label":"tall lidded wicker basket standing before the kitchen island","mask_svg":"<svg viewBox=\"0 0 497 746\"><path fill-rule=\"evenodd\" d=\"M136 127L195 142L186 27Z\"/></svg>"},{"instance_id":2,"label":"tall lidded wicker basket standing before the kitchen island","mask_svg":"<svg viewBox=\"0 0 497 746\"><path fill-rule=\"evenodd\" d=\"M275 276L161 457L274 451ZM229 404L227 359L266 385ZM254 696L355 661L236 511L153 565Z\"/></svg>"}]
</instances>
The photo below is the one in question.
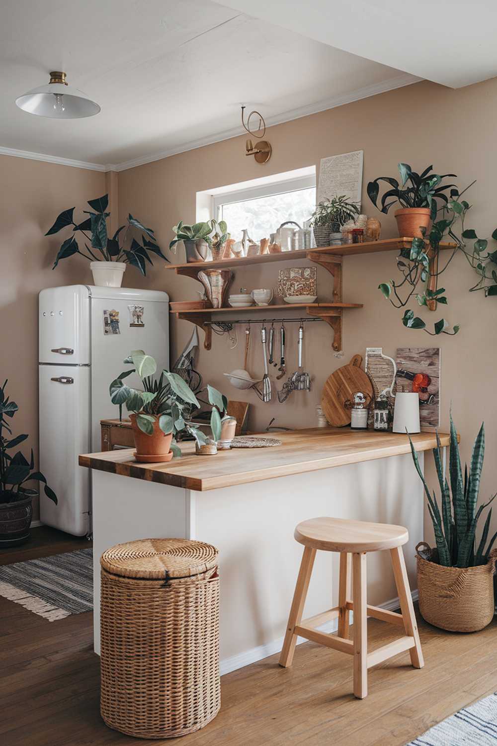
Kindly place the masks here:
<instances>
[{"instance_id":1,"label":"tall lidded wicker basket standing before the kitchen island","mask_svg":"<svg viewBox=\"0 0 497 746\"><path fill-rule=\"evenodd\" d=\"M101 557L101 715L145 739L217 715L218 551L187 539L118 544Z\"/></svg>"}]
</instances>

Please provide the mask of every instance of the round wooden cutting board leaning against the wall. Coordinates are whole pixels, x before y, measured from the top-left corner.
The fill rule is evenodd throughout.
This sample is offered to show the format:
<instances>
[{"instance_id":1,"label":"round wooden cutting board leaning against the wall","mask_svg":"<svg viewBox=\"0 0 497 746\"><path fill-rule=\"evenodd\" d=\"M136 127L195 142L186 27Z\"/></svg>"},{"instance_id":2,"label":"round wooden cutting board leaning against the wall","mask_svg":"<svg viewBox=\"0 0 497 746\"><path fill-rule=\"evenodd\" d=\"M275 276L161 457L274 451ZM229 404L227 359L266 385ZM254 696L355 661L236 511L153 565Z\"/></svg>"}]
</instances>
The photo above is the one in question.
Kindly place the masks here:
<instances>
[{"instance_id":1,"label":"round wooden cutting board leaning against the wall","mask_svg":"<svg viewBox=\"0 0 497 746\"><path fill-rule=\"evenodd\" d=\"M351 400L355 392L361 391L373 398L373 386L361 369L361 363L361 355L354 355L350 363L332 373L323 386L321 407L332 427L350 424L350 410L346 409L345 402Z\"/></svg>"}]
</instances>

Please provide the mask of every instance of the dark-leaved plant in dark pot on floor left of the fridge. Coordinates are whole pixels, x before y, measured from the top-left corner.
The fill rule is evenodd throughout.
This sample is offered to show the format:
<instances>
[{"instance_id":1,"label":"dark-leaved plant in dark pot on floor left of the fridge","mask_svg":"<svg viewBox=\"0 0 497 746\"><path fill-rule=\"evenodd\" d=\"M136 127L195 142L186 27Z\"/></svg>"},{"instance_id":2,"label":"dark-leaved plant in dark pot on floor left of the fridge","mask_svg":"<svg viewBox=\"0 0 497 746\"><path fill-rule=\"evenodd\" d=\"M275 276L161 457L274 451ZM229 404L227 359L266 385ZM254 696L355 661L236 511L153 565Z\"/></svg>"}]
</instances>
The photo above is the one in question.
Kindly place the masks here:
<instances>
[{"instance_id":1,"label":"dark-leaved plant in dark pot on floor left of the fridge","mask_svg":"<svg viewBox=\"0 0 497 746\"><path fill-rule=\"evenodd\" d=\"M57 505L57 496L41 471L34 471L33 449L29 461L21 451L13 456L8 453L28 436L10 437L12 430L6 418L12 419L19 407L5 395L6 386L7 381L0 389L0 548L22 544L29 537L33 516L31 501L38 492L25 487L26 482L37 480L45 483L45 495Z\"/></svg>"}]
</instances>

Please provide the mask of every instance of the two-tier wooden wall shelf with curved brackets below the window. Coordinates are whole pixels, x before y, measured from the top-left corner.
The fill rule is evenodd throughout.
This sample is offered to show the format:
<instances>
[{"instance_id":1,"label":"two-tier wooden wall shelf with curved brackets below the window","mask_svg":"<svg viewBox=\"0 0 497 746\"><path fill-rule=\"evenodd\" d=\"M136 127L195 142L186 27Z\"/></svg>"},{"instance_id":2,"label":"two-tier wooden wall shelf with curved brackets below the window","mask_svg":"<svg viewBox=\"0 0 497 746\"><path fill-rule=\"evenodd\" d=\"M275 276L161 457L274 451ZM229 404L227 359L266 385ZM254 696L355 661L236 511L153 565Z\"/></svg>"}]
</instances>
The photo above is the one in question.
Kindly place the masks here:
<instances>
[{"instance_id":1,"label":"two-tier wooden wall shelf with curved brackets below the window","mask_svg":"<svg viewBox=\"0 0 497 746\"><path fill-rule=\"evenodd\" d=\"M174 269L177 275L186 275L197 280L197 272L200 269L237 269L253 264L271 264L274 262L293 262L297 259L307 259L314 264L323 266L333 277L333 302L314 304L282 304L273 306L248 306L244 308L206 308L201 310L171 311L176 314L177 319L189 321L196 324L205 332L204 347L210 350L212 345L212 315L218 316L224 313L237 313L247 311L250 313L268 310L295 310L305 309L309 316L317 316L329 324L335 332L332 347L335 351L342 348L342 313L348 308L362 308L361 303L342 302L342 261L344 257L357 254L374 254L379 251L401 251L402 248L411 248L412 238L390 238L367 243L354 243L340 246L324 246L320 248L303 248L296 251L282 251L281 254L259 254L256 257L240 257L239 259L220 259L211 262L191 262L185 264L167 264L165 269ZM453 243L440 243L440 248L455 248ZM436 278L435 278L436 279ZM267 317L268 318L268 317Z\"/></svg>"}]
</instances>

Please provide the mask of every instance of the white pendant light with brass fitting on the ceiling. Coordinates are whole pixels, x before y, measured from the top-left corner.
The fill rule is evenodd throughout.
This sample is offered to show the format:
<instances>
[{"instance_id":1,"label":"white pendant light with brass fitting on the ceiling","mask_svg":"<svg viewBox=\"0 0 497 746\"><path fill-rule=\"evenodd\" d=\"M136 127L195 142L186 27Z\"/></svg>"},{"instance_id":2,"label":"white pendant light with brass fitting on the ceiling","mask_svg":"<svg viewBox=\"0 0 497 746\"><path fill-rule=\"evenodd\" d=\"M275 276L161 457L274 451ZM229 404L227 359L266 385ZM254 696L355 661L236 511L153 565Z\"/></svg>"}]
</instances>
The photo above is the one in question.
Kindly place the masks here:
<instances>
[{"instance_id":1,"label":"white pendant light with brass fitting on the ceiling","mask_svg":"<svg viewBox=\"0 0 497 746\"><path fill-rule=\"evenodd\" d=\"M65 72L51 72L50 83L16 98L19 109L51 119L80 119L98 114L100 107L86 93L67 84Z\"/></svg>"}]
</instances>

